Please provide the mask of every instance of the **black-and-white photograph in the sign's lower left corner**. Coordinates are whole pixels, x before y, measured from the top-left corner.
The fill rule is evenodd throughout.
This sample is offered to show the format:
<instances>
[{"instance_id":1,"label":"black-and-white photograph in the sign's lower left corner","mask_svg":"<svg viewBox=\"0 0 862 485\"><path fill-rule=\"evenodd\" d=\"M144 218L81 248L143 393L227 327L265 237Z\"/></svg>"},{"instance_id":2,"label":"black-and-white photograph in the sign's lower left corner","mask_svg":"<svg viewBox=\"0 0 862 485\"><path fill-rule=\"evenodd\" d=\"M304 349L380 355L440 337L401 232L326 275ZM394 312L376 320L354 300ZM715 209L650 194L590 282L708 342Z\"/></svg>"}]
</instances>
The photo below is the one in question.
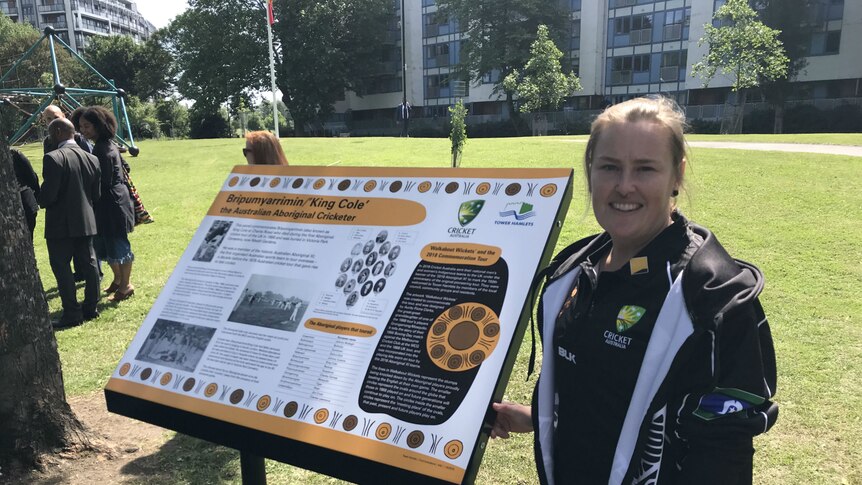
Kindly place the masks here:
<instances>
[{"instance_id":1,"label":"black-and-white photograph in the sign's lower left corner","mask_svg":"<svg viewBox=\"0 0 862 485\"><path fill-rule=\"evenodd\" d=\"M215 334L214 328L158 319L135 357L137 360L193 372Z\"/></svg>"}]
</instances>

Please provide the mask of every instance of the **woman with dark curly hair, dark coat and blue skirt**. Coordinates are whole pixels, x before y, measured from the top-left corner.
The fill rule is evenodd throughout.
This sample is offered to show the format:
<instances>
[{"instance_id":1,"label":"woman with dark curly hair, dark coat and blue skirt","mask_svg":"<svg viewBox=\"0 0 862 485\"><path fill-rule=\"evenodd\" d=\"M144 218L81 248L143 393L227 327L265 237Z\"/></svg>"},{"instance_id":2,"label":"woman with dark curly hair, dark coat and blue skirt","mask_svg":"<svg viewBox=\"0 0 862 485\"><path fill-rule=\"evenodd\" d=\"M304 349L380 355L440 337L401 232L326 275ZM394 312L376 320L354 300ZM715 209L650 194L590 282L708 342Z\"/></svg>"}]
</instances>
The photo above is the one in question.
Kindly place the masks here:
<instances>
[{"instance_id":1,"label":"woman with dark curly hair, dark coat and blue skirt","mask_svg":"<svg viewBox=\"0 0 862 485\"><path fill-rule=\"evenodd\" d=\"M114 273L105 293L119 302L135 294L131 283L135 255L128 234L135 227L135 212L125 184L120 152L111 140L117 134L117 120L101 106L91 106L80 115L81 134L93 140L93 155L102 170L102 197L94 204L98 235L93 239L96 256L108 262Z\"/></svg>"}]
</instances>

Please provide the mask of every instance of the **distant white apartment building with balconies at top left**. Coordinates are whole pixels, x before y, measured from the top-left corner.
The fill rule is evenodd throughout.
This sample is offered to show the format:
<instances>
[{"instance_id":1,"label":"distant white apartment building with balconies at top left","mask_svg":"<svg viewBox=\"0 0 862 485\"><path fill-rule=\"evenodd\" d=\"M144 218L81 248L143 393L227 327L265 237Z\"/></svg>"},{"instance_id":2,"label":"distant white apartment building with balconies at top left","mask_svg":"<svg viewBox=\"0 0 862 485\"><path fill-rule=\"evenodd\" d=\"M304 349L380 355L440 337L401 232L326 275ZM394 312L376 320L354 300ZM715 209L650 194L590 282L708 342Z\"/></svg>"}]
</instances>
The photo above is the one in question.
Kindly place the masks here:
<instances>
[{"instance_id":1,"label":"distant white apartment building with balconies at top left","mask_svg":"<svg viewBox=\"0 0 862 485\"><path fill-rule=\"evenodd\" d=\"M0 11L40 31L53 27L76 51L83 50L87 39L95 35L145 40L156 30L129 0L0 0Z\"/></svg>"}]
</instances>

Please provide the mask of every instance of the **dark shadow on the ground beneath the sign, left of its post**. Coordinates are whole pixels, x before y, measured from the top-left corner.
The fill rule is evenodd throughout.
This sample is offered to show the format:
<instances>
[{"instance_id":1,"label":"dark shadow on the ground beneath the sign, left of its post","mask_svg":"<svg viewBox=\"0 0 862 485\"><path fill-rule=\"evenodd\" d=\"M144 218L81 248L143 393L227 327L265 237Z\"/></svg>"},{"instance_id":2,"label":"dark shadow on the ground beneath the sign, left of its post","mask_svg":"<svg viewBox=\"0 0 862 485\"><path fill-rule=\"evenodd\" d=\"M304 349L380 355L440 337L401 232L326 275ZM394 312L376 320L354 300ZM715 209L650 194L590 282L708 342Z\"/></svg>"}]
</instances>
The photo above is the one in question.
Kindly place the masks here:
<instances>
[{"instance_id":1,"label":"dark shadow on the ground beneath the sign, left of its post","mask_svg":"<svg viewBox=\"0 0 862 485\"><path fill-rule=\"evenodd\" d=\"M222 483L239 478L239 452L177 433L122 468L131 483Z\"/></svg>"}]
</instances>

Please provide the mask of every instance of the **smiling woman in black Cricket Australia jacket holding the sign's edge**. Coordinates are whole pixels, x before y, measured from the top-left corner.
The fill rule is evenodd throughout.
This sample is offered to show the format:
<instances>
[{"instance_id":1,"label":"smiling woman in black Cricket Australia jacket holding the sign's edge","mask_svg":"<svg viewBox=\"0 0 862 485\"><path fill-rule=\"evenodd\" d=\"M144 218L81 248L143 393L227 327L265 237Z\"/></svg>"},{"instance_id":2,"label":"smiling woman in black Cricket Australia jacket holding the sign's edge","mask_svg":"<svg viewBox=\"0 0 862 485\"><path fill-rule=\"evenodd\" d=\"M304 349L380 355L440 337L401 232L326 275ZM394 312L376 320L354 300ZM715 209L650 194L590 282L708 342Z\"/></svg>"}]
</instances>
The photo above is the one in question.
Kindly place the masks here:
<instances>
[{"instance_id":1,"label":"smiling woman in black Cricket Australia jacket holding the sign's edge","mask_svg":"<svg viewBox=\"0 0 862 485\"><path fill-rule=\"evenodd\" d=\"M684 121L642 98L592 125L584 170L605 232L546 270L532 406L493 405L492 437L535 430L542 483L751 483L752 436L777 418L762 275L675 208Z\"/></svg>"}]
</instances>

